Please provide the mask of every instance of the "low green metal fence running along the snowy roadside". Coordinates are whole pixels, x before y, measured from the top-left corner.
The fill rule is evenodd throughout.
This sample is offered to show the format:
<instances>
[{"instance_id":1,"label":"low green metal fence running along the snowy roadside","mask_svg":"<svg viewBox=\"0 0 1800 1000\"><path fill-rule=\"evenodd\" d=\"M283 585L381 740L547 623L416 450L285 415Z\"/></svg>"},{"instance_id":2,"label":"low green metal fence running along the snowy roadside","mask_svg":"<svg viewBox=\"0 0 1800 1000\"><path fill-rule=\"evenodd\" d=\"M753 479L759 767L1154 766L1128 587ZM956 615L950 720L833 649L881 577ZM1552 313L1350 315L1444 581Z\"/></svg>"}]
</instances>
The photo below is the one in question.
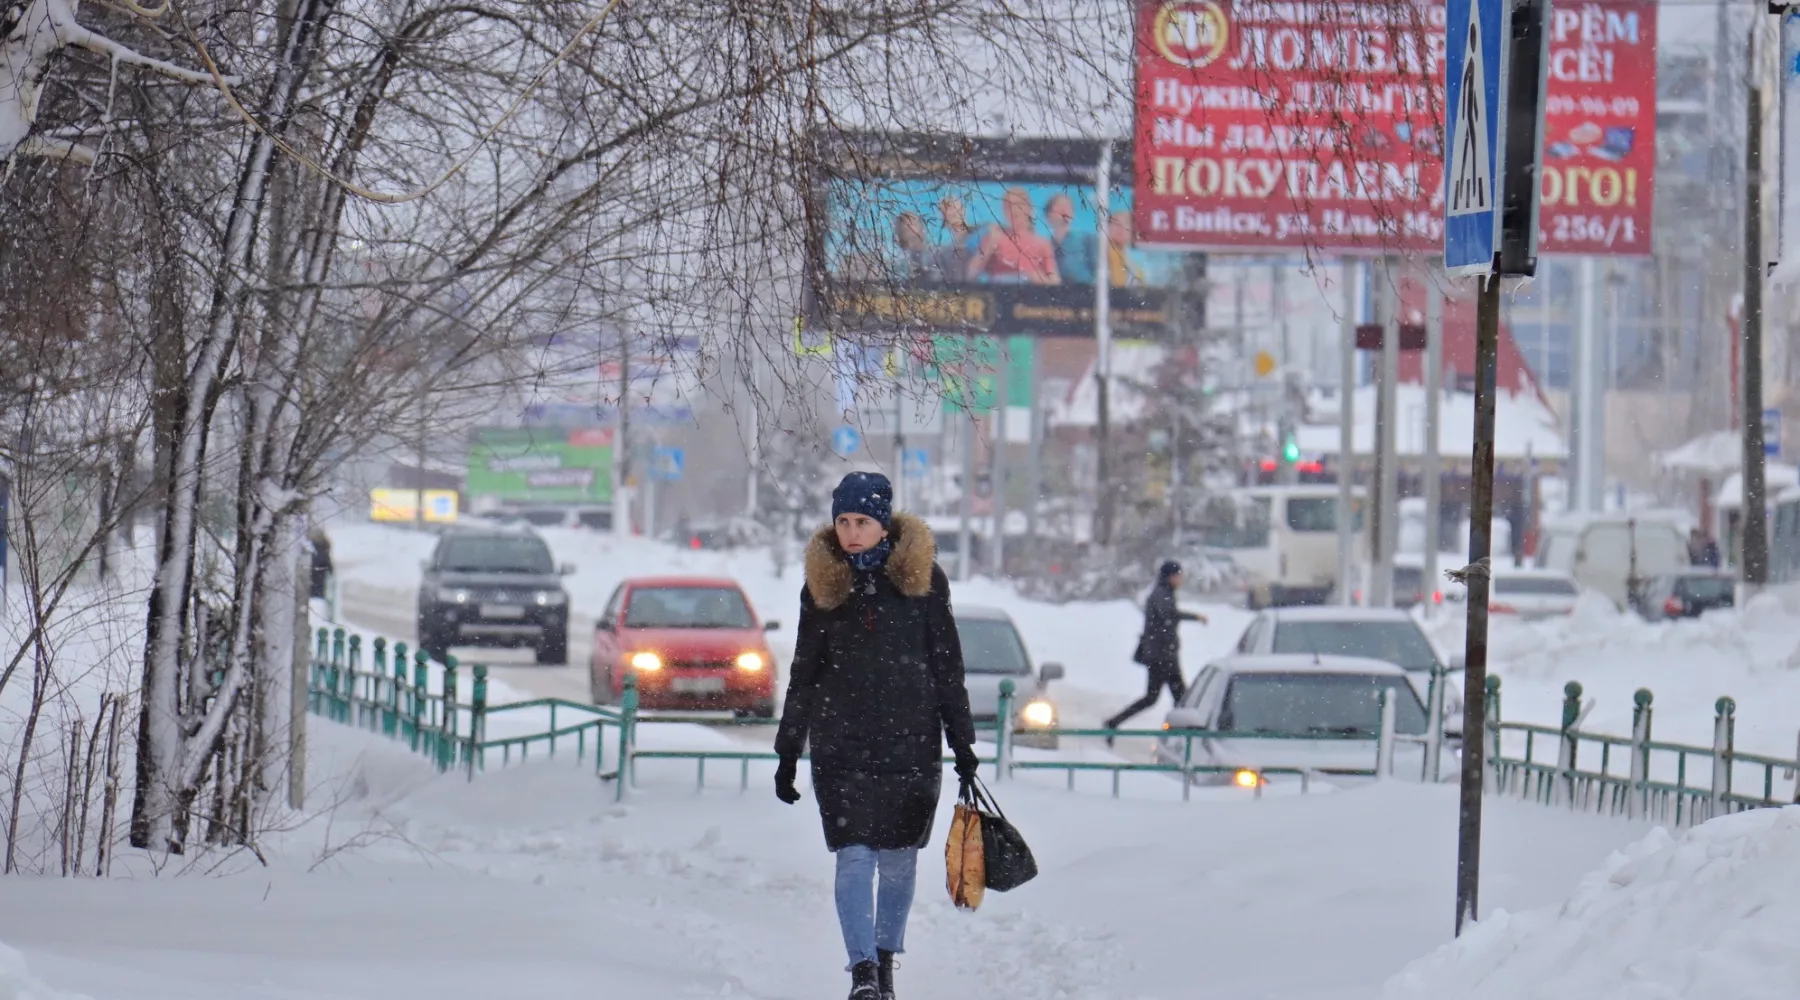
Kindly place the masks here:
<instances>
[{"instance_id":1,"label":"low green metal fence running along the snowy roadside","mask_svg":"<svg viewBox=\"0 0 1800 1000\"><path fill-rule=\"evenodd\" d=\"M466 696L463 665L446 656L436 671L430 656L409 651L405 642L374 638L367 658L362 638L342 628L317 631L311 656L308 705L313 714L365 728L407 745L432 761L437 770L461 768L470 779L490 766L506 768L536 755L556 757L572 752L578 763L592 757L594 773L614 782L623 799L637 784L643 761L691 761L695 788L704 790L707 770L736 772L738 788L747 790L752 763L776 763L770 750L646 750L637 743L641 725L702 723L761 725L767 719L722 719L700 714L644 714L637 707L637 682L626 676L617 707L589 705L560 698L535 698L504 705L488 703L488 667L470 671ZM436 689L434 689L436 687ZM1652 701L1649 691L1634 696L1633 734L1609 736L1580 727L1580 683L1564 689L1562 721L1557 727L1501 719L1501 685L1487 680L1487 784L1490 793L1514 795L1579 811L1624 815L1660 824L1683 826L1744 809L1786 806L1800 793L1800 763L1739 754L1735 750L1737 703L1715 703L1714 745L1694 746L1652 739ZM1015 691L1001 683L994 723L979 727L992 734L992 754L983 757L995 781L1033 772L1062 772L1075 790L1076 775L1102 773L1111 779L1112 797L1127 773L1154 773L1181 779L1183 799L1192 797L1197 779L1222 777L1255 790L1260 797L1271 777L1294 777L1301 791L1316 777L1384 777L1393 773L1397 745L1422 745L1422 777L1435 773L1431 757L1438 741L1436 727L1426 737L1395 736L1391 710L1382 710L1377 734L1244 734L1170 728L1031 728L1039 739L1130 739L1181 741L1181 759L1161 754L1157 763L1017 759L1019 732L1013 723ZM500 736L490 734L500 730ZM1229 763L1195 763L1195 743L1229 739L1233 743L1267 741L1346 741L1364 743L1372 752L1368 768L1267 768ZM945 763L950 763L945 757Z\"/></svg>"}]
</instances>

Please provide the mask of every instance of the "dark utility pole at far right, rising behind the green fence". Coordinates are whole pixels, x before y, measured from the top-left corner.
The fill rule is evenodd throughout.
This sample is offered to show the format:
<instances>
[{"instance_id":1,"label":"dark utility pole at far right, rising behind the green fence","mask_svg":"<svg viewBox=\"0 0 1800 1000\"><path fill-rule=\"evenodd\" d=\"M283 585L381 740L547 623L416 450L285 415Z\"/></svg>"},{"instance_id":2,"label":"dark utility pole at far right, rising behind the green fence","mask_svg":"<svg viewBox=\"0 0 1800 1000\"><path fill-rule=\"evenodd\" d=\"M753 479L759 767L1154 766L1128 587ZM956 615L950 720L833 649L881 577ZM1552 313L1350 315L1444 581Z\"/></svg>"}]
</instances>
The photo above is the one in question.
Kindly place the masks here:
<instances>
[{"instance_id":1,"label":"dark utility pole at far right, rising behind the green fence","mask_svg":"<svg viewBox=\"0 0 1800 1000\"><path fill-rule=\"evenodd\" d=\"M1762 81L1757 72L1757 27L1750 29L1750 99L1744 131L1744 322L1739 354L1744 372L1744 595L1769 581L1769 529L1764 507L1762 453Z\"/></svg>"}]
</instances>

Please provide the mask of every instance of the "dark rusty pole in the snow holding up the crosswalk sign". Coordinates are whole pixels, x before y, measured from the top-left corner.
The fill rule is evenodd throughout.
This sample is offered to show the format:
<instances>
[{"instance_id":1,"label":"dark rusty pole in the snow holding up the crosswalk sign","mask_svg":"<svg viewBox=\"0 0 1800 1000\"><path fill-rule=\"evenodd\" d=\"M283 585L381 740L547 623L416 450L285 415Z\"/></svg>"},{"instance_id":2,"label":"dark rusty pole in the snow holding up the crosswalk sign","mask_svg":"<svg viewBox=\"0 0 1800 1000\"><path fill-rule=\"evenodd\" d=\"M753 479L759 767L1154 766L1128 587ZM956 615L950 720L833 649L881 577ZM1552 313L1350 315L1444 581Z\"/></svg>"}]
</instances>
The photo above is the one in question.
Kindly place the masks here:
<instances>
[{"instance_id":1,"label":"dark rusty pole in the snow holding up the crosswalk sign","mask_svg":"<svg viewBox=\"0 0 1800 1000\"><path fill-rule=\"evenodd\" d=\"M1463 644L1462 809L1456 836L1456 933L1480 912L1481 779L1487 766L1487 601L1494 531L1494 396L1499 275L1480 279L1474 326L1474 450L1469 457L1469 633Z\"/></svg>"}]
</instances>

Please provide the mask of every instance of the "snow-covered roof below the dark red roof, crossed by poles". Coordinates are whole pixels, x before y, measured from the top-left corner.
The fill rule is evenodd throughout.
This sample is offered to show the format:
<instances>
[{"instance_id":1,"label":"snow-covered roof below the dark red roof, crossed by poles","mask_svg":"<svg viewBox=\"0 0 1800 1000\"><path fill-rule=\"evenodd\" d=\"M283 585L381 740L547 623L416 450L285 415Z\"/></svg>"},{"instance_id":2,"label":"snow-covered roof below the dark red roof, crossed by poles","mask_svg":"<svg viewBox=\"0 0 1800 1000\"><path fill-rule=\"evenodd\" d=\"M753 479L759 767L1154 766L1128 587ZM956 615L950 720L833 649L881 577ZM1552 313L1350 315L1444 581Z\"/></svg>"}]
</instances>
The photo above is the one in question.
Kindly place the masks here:
<instances>
[{"instance_id":1,"label":"snow-covered roof below the dark red roof, crossed by poles","mask_svg":"<svg viewBox=\"0 0 1800 1000\"><path fill-rule=\"evenodd\" d=\"M1426 387L1400 385L1395 390L1395 450L1402 457L1426 453ZM1474 396L1445 392L1438 406L1438 455L1467 459L1474 451ZM1303 424L1294 432L1300 450L1309 455L1337 451L1337 424ZM1355 453L1372 455L1375 442L1375 387L1355 390ZM1568 444L1557 430L1557 417L1537 396L1501 390L1494 401L1494 455L1499 459L1564 459Z\"/></svg>"}]
</instances>

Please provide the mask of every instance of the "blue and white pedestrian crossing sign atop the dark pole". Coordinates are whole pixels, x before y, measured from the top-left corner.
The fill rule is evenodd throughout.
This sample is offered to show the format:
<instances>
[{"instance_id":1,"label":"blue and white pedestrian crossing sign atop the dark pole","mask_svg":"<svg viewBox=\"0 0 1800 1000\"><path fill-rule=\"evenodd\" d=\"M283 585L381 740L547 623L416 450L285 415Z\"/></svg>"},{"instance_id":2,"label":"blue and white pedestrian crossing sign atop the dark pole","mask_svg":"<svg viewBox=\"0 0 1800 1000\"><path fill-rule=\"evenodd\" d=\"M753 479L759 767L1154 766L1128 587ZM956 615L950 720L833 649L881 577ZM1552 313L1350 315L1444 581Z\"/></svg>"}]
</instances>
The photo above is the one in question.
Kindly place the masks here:
<instances>
[{"instance_id":1,"label":"blue and white pedestrian crossing sign atop the dark pole","mask_svg":"<svg viewBox=\"0 0 1800 1000\"><path fill-rule=\"evenodd\" d=\"M1444 59L1444 270L1485 275L1499 248L1503 18L1510 0L1449 0Z\"/></svg>"}]
</instances>

